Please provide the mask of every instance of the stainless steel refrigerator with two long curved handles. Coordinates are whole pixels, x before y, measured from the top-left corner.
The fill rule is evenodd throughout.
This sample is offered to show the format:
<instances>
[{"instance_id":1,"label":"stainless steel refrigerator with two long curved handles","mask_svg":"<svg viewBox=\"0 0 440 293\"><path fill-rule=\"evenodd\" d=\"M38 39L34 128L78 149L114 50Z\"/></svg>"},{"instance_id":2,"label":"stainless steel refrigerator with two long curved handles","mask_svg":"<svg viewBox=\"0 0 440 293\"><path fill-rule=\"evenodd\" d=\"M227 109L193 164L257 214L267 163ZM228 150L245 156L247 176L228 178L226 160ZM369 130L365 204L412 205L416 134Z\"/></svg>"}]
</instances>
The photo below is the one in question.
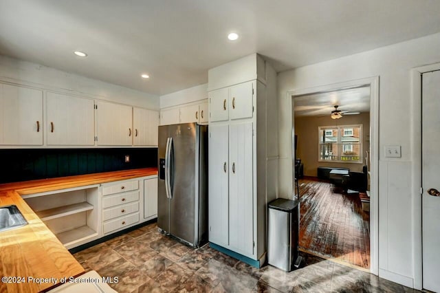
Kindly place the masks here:
<instances>
[{"instance_id":1,"label":"stainless steel refrigerator with two long curved handles","mask_svg":"<svg viewBox=\"0 0 440 293\"><path fill-rule=\"evenodd\" d=\"M157 226L199 247L208 239L208 127L159 126Z\"/></svg>"}]
</instances>

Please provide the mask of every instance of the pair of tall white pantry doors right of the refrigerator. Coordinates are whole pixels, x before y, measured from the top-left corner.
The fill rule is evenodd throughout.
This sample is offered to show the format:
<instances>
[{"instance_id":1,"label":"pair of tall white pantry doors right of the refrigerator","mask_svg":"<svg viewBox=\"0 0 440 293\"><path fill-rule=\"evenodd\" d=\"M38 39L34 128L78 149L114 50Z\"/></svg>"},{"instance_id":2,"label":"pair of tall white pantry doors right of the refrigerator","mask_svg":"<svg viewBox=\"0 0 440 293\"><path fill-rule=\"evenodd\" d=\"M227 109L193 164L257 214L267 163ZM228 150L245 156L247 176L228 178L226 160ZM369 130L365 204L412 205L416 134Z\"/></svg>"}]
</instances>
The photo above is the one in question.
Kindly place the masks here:
<instances>
[{"instance_id":1,"label":"pair of tall white pantry doors right of the refrigerator","mask_svg":"<svg viewBox=\"0 0 440 293\"><path fill-rule=\"evenodd\" d=\"M209 241L254 257L252 122L209 128Z\"/></svg>"}]
</instances>

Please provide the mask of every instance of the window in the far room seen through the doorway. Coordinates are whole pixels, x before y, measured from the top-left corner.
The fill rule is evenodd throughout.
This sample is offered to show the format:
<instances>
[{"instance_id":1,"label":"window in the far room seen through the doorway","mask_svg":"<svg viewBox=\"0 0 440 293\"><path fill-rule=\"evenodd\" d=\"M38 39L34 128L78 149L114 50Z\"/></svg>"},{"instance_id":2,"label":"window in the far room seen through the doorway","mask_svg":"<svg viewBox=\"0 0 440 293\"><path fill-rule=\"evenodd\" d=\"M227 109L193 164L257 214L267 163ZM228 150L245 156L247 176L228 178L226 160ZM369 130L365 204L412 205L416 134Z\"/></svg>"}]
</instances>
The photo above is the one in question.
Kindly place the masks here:
<instances>
[{"instance_id":1,"label":"window in the far room seen through the doorway","mask_svg":"<svg viewBox=\"0 0 440 293\"><path fill-rule=\"evenodd\" d=\"M362 163L362 125L319 127L319 162Z\"/></svg>"}]
</instances>

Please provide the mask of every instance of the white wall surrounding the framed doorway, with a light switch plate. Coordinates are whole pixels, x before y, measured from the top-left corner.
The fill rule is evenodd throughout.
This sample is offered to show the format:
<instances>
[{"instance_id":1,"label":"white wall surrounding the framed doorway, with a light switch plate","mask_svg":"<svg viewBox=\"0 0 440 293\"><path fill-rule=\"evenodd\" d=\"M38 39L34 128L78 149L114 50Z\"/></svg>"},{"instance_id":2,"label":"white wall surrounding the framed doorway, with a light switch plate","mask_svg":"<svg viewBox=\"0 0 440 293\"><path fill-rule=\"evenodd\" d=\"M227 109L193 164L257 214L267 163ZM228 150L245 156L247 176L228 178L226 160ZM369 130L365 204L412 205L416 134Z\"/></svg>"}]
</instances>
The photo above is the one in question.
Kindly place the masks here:
<instances>
[{"instance_id":1,"label":"white wall surrounding the framed doorway, with a light switch plate","mask_svg":"<svg viewBox=\"0 0 440 293\"><path fill-rule=\"evenodd\" d=\"M440 61L440 34L278 74L279 194L292 191L292 108L287 91L380 76L379 98L379 269L380 276L413 285L414 210L420 195L411 186L412 100L410 70ZM401 158L384 158L384 146L401 145ZM376 158L377 160L377 158ZM418 252L417 252L418 253Z\"/></svg>"}]
</instances>

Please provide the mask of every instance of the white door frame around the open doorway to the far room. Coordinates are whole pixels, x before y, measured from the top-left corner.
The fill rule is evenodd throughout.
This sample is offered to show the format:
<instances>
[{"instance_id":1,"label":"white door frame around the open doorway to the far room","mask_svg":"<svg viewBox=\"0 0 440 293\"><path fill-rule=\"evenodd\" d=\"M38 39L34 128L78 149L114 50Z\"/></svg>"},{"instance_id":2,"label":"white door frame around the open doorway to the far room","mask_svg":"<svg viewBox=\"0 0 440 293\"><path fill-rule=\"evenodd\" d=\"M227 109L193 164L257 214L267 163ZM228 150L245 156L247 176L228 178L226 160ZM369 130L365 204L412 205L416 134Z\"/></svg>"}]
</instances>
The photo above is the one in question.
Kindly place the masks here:
<instances>
[{"instance_id":1,"label":"white door frame around the open doorway to the far room","mask_svg":"<svg viewBox=\"0 0 440 293\"><path fill-rule=\"evenodd\" d=\"M333 83L307 89L287 91L287 99L292 110L292 158L294 158L294 98L305 94L333 91L368 85L370 87L370 272L379 274L379 76ZM293 164L294 161L292 161ZM292 166L292 170L294 170Z\"/></svg>"}]
</instances>

